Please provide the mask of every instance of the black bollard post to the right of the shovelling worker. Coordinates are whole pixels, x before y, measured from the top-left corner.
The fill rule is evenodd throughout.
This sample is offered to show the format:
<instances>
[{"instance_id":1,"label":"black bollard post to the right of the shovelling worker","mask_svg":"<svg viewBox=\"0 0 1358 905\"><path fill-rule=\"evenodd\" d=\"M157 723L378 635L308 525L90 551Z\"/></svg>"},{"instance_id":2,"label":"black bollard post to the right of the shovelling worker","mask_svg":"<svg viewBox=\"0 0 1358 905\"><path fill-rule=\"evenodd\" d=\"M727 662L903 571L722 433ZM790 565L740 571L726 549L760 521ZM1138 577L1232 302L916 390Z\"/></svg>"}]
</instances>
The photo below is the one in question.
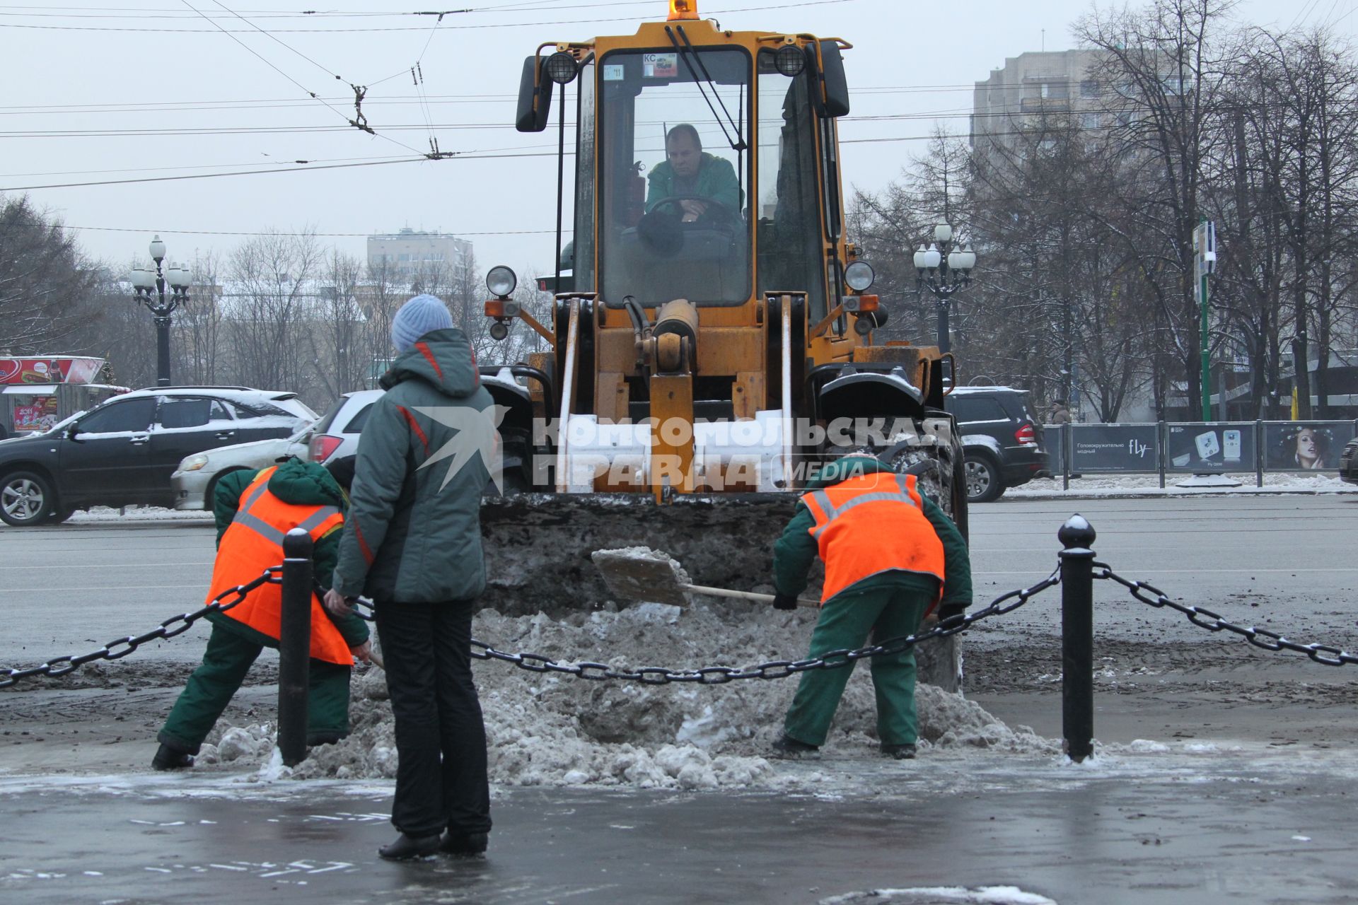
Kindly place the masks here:
<instances>
[{"instance_id":1,"label":"black bollard post to the right of the shovelling worker","mask_svg":"<svg viewBox=\"0 0 1358 905\"><path fill-rule=\"evenodd\" d=\"M1095 737L1095 529L1074 514L1061 539L1061 730L1077 764Z\"/></svg>"}]
</instances>

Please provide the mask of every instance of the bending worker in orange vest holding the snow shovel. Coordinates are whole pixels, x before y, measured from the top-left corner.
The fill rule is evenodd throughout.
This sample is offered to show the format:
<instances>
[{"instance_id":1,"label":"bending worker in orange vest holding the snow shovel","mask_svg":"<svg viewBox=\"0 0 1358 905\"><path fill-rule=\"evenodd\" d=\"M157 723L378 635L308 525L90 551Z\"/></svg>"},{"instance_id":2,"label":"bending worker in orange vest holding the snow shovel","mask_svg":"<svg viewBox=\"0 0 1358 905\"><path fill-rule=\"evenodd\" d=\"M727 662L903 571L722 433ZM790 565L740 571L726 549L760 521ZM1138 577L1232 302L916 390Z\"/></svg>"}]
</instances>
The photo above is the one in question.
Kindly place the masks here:
<instances>
[{"instance_id":1,"label":"bending worker in orange vest holding the snow shovel","mask_svg":"<svg viewBox=\"0 0 1358 905\"><path fill-rule=\"evenodd\" d=\"M816 556L826 563L820 617L808 657L862 647L918 631L938 609L947 619L971 604L971 560L952 520L902 475L872 455L827 463L774 544L774 606L794 609ZM915 756L915 653L872 659L881 753ZM801 684L774 744L777 757L813 754L824 744L857 661L813 669Z\"/></svg>"}]
</instances>

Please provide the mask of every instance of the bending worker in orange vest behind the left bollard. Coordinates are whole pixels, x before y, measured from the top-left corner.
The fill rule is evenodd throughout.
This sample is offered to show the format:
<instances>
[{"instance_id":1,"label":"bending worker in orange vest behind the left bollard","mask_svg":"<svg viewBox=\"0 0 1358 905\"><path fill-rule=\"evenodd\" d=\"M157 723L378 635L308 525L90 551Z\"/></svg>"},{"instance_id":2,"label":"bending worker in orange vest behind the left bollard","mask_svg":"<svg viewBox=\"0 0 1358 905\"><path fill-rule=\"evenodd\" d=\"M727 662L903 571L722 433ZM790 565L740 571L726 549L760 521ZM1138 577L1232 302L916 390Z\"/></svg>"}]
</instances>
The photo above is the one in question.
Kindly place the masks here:
<instances>
[{"instance_id":1,"label":"bending worker in orange vest behind the left bollard","mask_svg":"<svg viewBox=\"0 0 1358 905\"><path fill-rule=\"evenodd\" d=\"M282 537L292 528L311 535L314 574L326 588L340 552L353 461L352 456L341 459L327 471L315 463L289 459L259 472L238 471L221 478L213 499L217 562L208 601L281 564ZM206 616L212 635L202 665L189 677L160 730L153 768L193 765L202 739L255 658L265 647L278 646L281 613L282 588L269 582L231 609ZM349 734L349 673L354 657L367 661L371 653L364 620L356 615L331 619L312 594L308 745L335 742Z\"/></svg>"}]
</instances>

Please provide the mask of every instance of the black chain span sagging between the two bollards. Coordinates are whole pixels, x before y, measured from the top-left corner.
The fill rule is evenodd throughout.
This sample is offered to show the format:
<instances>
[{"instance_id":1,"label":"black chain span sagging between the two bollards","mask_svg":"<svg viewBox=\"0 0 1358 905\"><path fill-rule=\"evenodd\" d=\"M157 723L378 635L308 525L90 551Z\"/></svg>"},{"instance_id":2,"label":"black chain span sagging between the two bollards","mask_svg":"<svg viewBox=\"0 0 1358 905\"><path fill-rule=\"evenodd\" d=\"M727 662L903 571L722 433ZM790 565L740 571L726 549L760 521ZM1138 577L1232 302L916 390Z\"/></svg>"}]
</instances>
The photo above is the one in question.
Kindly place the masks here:
<instances>
[{"instance_id":1,"label":"black chain span sagging between the two bollards","mask_svg":"<svg viewBox=\"0 0 1358 905\"><path fill-rule=\"evenodd\" d=\"M637 669L614 669L607 663L561 663L542 654L532 654L527 651L509 654L502 650L496 650L490 644L479 642L475 638L471 639L471 655L477 659L498 659L505 663L513 663L519 669L526 669L531 673L564 673L566 676L574 676L576 678L585 678L589 681L618 680L641 682L644 685L669 685L672 682L725 685L727 682L733 682L740 678L786 678L811 669L841 669L869 657L889 657L892 654L900 654L919 642L956 635L982 619L1010 613L1027 604L1031 597L1059 583L1061 571L1058 569L1031 588L1023 588L1001 594L990 601L987 606L974 613L949 616L929 631L918 635L888 638L879 644L870 644L857 650L832 650L822 654L820 657L812 657L808 659L773 659L766 663L746 668L703 666L701 669L668 669L665 666L640 666ZM361 602L365 606L371 606L371 604L367 604L365 601Z\"/></svg>"}]
</instances>

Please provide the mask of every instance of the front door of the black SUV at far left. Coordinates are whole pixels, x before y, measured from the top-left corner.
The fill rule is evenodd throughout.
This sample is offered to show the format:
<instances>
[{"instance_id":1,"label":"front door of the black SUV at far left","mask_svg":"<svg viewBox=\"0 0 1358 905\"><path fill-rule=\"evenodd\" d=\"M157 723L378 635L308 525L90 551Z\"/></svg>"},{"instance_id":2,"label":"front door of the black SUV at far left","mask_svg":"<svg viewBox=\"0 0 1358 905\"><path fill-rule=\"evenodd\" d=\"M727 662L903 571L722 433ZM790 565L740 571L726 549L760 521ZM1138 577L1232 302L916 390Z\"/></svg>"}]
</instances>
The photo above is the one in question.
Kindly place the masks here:
<instances>
[{"instance_id":1,"label":"front door of the black SUV at far left","mask_svg":"<svg viewBox=\"0 0 1358 905\"><path fill-rule=\"evenodd\" d=\"M125 506L151 493L153 396L114 399L75 422L61 440L62 503Z\"/></svg>"}]
</instances>

